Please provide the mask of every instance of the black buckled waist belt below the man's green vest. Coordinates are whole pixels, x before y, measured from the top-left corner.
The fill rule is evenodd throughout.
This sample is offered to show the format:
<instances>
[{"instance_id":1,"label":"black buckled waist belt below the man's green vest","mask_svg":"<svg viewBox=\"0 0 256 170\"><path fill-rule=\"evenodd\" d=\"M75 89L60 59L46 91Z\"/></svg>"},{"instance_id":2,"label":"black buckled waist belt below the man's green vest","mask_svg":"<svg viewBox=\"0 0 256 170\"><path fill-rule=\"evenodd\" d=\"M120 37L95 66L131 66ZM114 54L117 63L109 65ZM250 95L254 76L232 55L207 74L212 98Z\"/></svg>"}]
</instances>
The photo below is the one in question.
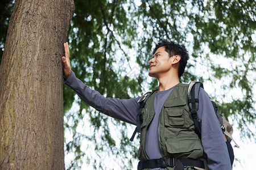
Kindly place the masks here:
<instances>
[{"instance_id":1,"label":"black buckled waist belt below the man's green vest","mask_svg":"<svg viewBox=\"0 0 256 170\"><path fill-rule=\"evenodd\" d=\"M160 158L140 161L137 169L175 167L174 170L183 170L184 166L205 169L204 161L191 158Z\"/></svg>"}]
</instances>

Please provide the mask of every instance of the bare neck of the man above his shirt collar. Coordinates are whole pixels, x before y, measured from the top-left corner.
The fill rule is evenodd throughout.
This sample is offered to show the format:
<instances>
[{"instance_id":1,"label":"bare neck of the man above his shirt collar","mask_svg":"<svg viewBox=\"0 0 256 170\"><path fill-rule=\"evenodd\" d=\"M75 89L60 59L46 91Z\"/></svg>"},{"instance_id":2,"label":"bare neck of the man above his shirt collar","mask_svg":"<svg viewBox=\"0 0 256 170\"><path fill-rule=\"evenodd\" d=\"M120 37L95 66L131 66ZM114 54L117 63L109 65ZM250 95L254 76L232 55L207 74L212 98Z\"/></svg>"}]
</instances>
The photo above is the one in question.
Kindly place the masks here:
<instances>
[{"instance_id":1,"label":"bare neck of the man above his shirt collar","mask_svg":"<svg viewBox=\"0 0 256 170\"><path fill-rule=\"evenodd\" d=\"M167 77L163 77L163 78L159 78L159 88L158 91L165 91L168 90L174 86L176 86L177 84L180 83L179 81L179 77L178 76L167 76Z\"/></svg>"}]
</instances>

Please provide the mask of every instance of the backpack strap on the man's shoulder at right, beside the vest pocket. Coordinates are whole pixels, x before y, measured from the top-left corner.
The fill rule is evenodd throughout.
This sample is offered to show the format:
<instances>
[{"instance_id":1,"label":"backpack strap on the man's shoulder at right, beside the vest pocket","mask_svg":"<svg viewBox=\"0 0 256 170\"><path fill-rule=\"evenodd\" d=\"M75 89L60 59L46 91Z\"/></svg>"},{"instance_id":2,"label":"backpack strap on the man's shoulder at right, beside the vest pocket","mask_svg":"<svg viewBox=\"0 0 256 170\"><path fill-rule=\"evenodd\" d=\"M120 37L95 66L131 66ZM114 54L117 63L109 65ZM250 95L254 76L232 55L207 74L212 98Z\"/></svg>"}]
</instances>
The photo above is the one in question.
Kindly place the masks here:
<instances>
[{"instance_id":1,"label":"backpack strap on the man's shoulder at right, beside the vest pocket","mask_svg":"<svg viewBox=\"0 0 256 170\"><path fill-rule=\"evenodd\" d=\"M188 107L189 113L191 114L195 126L196 126L196 133L199 135L201 139L201 128L199 126L199 122L197 120L197 111L199 109L199 91L200 87L204 88L203 83L201 82L191 82L188 87Z\"/></svg>"}]
</instances>

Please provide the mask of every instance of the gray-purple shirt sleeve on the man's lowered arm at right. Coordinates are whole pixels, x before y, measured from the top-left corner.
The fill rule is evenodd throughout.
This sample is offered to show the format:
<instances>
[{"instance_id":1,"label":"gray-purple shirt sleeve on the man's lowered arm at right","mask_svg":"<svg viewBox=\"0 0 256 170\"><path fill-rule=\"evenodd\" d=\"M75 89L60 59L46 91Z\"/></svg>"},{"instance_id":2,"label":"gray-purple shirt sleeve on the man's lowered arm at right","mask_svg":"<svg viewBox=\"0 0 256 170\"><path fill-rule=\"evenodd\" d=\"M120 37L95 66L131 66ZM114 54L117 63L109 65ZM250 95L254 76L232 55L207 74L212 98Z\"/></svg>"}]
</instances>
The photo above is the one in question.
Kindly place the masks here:
<instances>
[{"instance_id":1,"label":"gray-purple shirt sleeve on the man's lowered arm at right","mask_svg":"<svg viewBox=\"0 0 256 170\"><path fill-rule=\"evenodd\" d=\"M209 170L232 169L220 123L212 107L212 102L203 88L199 91L197 114L201 126L201 141L204 152L207 154Z\"/></svg>"}]
</instances>

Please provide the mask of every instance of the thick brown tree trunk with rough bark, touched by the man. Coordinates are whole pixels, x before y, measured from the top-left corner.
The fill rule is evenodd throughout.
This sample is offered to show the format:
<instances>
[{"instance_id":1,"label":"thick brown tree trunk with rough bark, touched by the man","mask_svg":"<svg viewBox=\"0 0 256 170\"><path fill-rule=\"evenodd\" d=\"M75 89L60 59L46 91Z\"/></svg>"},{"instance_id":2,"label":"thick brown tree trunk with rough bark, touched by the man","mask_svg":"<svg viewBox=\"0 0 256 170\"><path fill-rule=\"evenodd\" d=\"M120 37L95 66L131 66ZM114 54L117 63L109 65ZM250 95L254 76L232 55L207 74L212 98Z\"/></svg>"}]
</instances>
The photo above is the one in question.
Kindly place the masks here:
<instances>
[{"instance_id":1,"label":"thick brown tree trunk with rough bark, touched by the man","mask_svg":"<svg viewBox=\"0 0 256 170\"><path fill-rule=\"evenodd\" d=\"M65 169L63 43L73 0L16 0L0 66L0 169Z\"/></svg>"}]
</instances>

